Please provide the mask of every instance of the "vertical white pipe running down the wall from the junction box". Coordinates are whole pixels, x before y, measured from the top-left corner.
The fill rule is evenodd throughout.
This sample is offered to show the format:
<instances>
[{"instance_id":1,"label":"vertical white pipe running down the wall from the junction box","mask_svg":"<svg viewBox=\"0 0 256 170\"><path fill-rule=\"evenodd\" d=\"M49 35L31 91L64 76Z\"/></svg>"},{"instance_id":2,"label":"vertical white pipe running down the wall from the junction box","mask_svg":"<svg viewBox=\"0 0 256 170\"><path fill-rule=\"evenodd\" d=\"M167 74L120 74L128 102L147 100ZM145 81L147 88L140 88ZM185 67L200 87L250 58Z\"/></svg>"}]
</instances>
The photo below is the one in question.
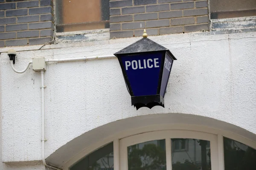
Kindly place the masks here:
<instances>
[{"instance_id":1,"label":"vertical white pipe running down the wall from the junction box","mask_svg":"<svg viewBox=\"0 0 256 170\"><path fill-rule=\"evenodd\" d=\"M42 161L43 161L44 166L46 166L46 167L50 167L55 170L61 170L59 168L47 165L45 162L45 157L44 157L44 151L45 151L44 143L45 143L46 139L44 137L44 71L43 70L41 71L41 93L42 93L42 96L41 96L42 97Z\"/></svg>"}]
</instances>

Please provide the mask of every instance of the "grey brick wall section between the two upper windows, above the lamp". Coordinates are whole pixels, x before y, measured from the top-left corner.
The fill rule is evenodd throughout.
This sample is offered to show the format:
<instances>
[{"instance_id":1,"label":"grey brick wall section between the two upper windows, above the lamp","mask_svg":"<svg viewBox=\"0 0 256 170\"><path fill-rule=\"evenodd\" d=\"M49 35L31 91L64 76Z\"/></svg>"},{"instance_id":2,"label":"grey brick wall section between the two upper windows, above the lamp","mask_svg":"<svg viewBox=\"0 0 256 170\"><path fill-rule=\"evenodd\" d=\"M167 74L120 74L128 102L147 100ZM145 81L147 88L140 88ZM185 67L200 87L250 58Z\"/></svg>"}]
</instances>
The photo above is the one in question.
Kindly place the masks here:
<instances>
[{"instance_id":1,"label":"grey brick wall section between the two upper windows, above the lamp","mask_svg":"<svg viewBox=\"0 0 256 170\"><path fill-rule=\"evenodd\" d=\"M209 30L207 0L111 0L111 38Z\"/></svg>"}]
</instances>

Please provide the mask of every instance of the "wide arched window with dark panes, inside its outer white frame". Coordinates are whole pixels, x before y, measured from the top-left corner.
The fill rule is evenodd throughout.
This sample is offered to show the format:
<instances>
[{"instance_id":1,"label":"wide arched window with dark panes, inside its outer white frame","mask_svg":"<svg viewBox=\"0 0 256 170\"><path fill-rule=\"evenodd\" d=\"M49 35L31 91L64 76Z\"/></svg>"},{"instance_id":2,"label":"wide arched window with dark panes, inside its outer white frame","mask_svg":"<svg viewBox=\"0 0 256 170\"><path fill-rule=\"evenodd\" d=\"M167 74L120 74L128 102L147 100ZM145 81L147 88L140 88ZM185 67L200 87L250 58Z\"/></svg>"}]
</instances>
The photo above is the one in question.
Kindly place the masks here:
<instances>
[{"instance_id":1,"label":"wide arched window with dark panes, inside its outer white frame","mask_svg":"<svg viewBox=\"0 0 256 170\"><path fill-rule=\"evenodd\" d=\"M256 150L228 137L191 130L141 133L106 144L68 169L255 170Z\"/></svg>"}]
</instances>

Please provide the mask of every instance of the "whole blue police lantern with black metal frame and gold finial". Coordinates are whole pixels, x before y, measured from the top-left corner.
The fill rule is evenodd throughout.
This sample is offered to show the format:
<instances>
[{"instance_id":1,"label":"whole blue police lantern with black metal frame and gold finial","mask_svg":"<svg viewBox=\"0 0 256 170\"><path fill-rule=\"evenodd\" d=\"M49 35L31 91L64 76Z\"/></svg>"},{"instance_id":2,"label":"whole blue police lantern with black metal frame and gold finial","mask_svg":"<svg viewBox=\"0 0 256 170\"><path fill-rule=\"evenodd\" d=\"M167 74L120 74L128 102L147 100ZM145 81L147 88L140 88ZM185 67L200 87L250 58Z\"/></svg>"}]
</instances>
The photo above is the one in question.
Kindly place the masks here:
<instances>
[{"instance_id":1,"label":"whole blue police lantern with black metal frame and gold finial","mask_svg":"<svg viewBox=\"0 0 256 170\"><path fill-rule=\"evenodd\" d=\"M116 52L122 68L126 87L131 95L131 105L164 108L164 95L176 58L169 49L149 40L144 30L143 38Z\"/></svg>"}]
</instances>

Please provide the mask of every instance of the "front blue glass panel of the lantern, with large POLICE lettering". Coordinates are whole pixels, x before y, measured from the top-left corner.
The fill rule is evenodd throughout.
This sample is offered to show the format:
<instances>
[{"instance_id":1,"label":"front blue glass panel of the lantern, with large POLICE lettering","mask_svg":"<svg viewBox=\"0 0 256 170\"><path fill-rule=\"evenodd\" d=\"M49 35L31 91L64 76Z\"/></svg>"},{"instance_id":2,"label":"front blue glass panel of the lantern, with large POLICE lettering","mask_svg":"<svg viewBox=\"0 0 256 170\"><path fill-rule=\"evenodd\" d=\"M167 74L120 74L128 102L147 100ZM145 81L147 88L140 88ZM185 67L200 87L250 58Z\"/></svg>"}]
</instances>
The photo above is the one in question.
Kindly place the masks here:
<instances>
[{"instance_id":1,"label":"front blue glass panel of the lantern, with large POLICE lettering","mask_svg":"<svg viewBox=\"0 0 256 170\"><path fill-rule=\"evenodd\" d=\"M157 94L163 52L146 52L121 57L134 96Z\"/></svg>"}]
</instances>

